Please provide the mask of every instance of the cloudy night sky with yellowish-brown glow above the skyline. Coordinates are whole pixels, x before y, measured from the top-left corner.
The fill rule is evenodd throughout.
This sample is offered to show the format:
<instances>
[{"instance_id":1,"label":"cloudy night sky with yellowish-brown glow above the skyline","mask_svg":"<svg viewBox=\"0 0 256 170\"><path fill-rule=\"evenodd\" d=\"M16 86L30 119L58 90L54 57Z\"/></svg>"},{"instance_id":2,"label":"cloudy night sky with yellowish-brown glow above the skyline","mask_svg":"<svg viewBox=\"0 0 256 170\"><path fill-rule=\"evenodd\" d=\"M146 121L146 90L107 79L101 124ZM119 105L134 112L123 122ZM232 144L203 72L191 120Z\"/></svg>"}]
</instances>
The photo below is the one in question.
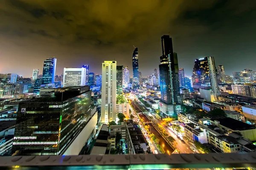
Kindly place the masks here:
<instances>
[{"instance_id":1,"label":"cloudy night sky with yellowish-brown glow above the skyline","mask_svg":"<svg viewBox=\"0 0 256 170\"><path fill-rule=\"evenodd\" d=\"M1 0L0 73L42 74L44 59L63 68L104 60L159 70L161 36L170 34L179 68L191 76L196 58L214 56L226 73L256 71L256 0Z\"/></svg>"}]
</instances>

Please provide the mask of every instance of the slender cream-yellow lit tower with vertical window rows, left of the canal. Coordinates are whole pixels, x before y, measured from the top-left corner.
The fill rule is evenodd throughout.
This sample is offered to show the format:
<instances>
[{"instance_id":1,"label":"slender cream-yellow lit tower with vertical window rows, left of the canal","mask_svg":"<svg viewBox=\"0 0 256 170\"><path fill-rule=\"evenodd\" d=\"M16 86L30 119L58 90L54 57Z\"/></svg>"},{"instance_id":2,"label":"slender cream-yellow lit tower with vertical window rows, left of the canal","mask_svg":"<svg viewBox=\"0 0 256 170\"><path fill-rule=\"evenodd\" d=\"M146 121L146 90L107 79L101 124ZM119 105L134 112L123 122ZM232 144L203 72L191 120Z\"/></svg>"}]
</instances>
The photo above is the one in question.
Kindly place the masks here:
<instances>
[{"instance_id":1,"label":"slender cream-yellow lit tower with vertical window rows, left of the canal","mask_svg":"<svg viewBox=\"0 0 256 170\"><path fill-rule=\"evenodd\" d=\"M116 61L102 63L101 122L116 121Z\"/></svg>"}]
</instances>

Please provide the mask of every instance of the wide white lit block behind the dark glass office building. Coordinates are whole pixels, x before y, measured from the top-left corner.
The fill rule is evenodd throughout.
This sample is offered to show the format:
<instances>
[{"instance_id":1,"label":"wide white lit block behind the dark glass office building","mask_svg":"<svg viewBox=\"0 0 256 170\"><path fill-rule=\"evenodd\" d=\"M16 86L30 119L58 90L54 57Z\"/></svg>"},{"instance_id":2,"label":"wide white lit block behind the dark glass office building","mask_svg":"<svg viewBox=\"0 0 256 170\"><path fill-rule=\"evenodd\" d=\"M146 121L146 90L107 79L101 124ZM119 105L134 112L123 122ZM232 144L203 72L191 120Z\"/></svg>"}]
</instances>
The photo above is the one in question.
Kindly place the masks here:
<instances>
[{"instance_id":1,"label":"wide white lit block behind the dark glass office building","mask_svg":"<svg viewBox=\"0 0 256 170\"><path fill-rule=\"evenodd\" d=\"M86 68L64 68L63 87L86 85Z\"/></svg>"}]
</instances>

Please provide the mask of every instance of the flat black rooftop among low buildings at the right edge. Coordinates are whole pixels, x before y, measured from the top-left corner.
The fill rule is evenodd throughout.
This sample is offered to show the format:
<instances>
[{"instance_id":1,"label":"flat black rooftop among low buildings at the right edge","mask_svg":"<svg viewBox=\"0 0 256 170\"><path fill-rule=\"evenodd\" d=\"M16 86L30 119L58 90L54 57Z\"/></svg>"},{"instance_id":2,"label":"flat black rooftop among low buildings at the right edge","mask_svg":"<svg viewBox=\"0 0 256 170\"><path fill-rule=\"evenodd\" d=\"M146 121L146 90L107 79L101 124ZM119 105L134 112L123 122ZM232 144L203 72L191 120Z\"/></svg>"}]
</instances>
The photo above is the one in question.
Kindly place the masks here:
<instances>
[{"instance_id":1,"label":"flat black rooftop among low buildings at the right edge","mask_svg":"<svg viewBox=\"0 0 256 170\"><path fill-rule=\"evenodd\" d=\"M255 126L249 125L247 123L241 122L239 120L236 119L232 119L230 117L207 117L209 118L209 120L211 121L218 121L220 122L219 124L224 126L224 127L228 127L232 130L250 130L250 129L256 129Z\"/></svg>"}]
</instances>

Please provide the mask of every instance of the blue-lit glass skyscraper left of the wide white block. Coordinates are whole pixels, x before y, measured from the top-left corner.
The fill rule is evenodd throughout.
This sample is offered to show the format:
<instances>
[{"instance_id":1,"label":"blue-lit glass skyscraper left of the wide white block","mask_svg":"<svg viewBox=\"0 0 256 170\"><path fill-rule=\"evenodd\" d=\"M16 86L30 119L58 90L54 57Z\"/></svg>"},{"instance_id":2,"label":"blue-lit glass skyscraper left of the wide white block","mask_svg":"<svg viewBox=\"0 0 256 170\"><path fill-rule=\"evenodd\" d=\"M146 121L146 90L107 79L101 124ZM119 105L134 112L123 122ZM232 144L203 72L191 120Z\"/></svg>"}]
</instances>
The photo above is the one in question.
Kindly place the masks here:
<instances>
[{"instance_id":1,"label":"blue-lit glass skyscraper left of the wide white block","mask_svg":"<svg viewBox=\"0 0 256 170\"><path fill-rule=\"evenodd\" d=\"M42 85L54 83L57 59L49 58L44 60Z\"/></svg>"}]
</instances>

